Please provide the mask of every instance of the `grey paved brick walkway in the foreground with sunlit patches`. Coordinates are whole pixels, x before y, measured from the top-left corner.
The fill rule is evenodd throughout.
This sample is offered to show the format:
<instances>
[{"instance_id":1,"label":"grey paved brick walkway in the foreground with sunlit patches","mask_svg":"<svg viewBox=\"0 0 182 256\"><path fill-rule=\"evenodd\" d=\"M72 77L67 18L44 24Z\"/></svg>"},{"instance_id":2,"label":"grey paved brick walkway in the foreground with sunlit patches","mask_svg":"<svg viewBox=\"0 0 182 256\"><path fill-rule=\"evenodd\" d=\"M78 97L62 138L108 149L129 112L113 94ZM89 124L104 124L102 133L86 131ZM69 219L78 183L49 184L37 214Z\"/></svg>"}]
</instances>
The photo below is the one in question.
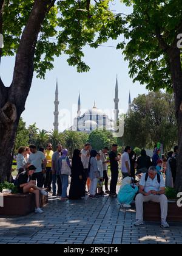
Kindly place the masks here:
<instances>
[{"instance_id":1,"label":"grey paved brick walkway in the foreground with sunlit patches","mask_svg":"<svg viewBox=\"0 0 182 256\"><path fill-rule=\"evenodd\" d=\"M147 222L133 227L135 210L120 207L108 196L61 202L49 197L42 215L0 218L0 243L126 244L182 243L182 224Z\"/></svg>"}]
</instances>

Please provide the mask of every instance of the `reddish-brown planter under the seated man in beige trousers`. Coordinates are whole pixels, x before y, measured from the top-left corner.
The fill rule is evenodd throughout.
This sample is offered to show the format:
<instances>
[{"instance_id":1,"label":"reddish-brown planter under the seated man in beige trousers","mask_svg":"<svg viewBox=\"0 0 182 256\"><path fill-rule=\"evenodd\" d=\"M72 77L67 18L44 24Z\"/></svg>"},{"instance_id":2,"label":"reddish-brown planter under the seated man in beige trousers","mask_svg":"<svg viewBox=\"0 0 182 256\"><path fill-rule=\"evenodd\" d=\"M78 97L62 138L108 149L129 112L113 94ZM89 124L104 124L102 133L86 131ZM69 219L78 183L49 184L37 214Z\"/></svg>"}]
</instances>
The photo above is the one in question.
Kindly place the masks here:
<instances>
[{"instance_id":1,"label":"reddish-brown planter under the seated man in beige trousers","mask_svg":"<svg viewBox=\"0 0 182 256\"><path fill-rule=\"evenodd\" d=\"M160 204L144 203L144 221L161 221ZM182 207L177 206L177 201L168 201L167 221L182 222Z\"/></svg>"}]
</instances>

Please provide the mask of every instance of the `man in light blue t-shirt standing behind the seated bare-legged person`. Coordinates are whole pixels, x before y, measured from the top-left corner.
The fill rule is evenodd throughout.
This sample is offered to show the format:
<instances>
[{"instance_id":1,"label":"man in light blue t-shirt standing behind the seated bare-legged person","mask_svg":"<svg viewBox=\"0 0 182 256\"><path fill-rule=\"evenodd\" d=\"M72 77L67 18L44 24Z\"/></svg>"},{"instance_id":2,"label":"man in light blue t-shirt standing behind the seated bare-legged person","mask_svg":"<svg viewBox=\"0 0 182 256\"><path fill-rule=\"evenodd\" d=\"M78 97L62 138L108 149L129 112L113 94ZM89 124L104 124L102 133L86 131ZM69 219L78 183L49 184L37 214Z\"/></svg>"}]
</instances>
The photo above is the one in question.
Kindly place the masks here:
<instances>
[{"instance_id":1,"label":"man in light blue t-shirt standing behind the seated bare-legged person","mask_svg":"<svg viewBox=\"0 0 182 256\"><path fill-rule=\"evenodd\" d=\"M37 180L37 187L42 188L45 180L47 160L41 151L37 151L35 145L30 145L30 151L32 154L29 156L28 164L36 167L36 171L34 172L32 179Z\"/></svg>"}]
</instances>

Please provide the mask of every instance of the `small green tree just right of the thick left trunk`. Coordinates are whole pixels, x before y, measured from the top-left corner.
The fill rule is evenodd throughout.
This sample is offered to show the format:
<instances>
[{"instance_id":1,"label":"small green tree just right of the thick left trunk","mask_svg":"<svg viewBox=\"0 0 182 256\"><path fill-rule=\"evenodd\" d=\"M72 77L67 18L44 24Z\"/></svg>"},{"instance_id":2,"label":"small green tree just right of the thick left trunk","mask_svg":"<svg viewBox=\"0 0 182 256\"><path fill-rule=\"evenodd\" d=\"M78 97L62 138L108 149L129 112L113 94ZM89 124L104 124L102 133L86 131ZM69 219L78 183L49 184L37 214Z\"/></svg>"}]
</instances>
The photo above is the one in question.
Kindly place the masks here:
<instances>
[{"instance_id":1,"label":"small green tree just right of the thick left trunk","mask_svg":"<svg viewBox=\"0 0 182 256\"><path fill-rule=\"evenodd\" d=\"M29 145L29 131L26 128L25 122L22 118L19 119L18 130L16 133L16 140L15 140L15 152L18 151L19 147L21 146L28 146Z\"/></svg>"}]
</instances>

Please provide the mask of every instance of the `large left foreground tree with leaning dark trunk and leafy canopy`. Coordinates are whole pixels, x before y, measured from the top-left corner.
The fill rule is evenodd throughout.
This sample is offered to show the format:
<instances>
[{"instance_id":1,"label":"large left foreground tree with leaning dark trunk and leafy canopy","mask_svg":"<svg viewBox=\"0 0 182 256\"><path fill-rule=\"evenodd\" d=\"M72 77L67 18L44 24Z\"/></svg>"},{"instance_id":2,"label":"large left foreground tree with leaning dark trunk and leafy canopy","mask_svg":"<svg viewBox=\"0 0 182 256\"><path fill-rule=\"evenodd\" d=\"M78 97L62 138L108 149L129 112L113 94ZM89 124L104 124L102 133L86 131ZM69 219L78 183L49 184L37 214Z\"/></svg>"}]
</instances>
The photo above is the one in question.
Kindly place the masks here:
<instances>
[{"instance_id":1,"label":"large left foreground tree with leaning dark trunk and leafy canopy","mask_svg":"<svg viewBox=\"0 0 182 256\"><path fill-rule=\"evenodd\" d=\"M34 71L44 77L54 56L69 55L69 65L88 71L83 47L94 42L96 32L113 19L109 0L0 0L2 56L16 55L13 79L5 87L0 78L1 180L10 175L19 118L32 85Z\"/></svg>"}]
</instances>

